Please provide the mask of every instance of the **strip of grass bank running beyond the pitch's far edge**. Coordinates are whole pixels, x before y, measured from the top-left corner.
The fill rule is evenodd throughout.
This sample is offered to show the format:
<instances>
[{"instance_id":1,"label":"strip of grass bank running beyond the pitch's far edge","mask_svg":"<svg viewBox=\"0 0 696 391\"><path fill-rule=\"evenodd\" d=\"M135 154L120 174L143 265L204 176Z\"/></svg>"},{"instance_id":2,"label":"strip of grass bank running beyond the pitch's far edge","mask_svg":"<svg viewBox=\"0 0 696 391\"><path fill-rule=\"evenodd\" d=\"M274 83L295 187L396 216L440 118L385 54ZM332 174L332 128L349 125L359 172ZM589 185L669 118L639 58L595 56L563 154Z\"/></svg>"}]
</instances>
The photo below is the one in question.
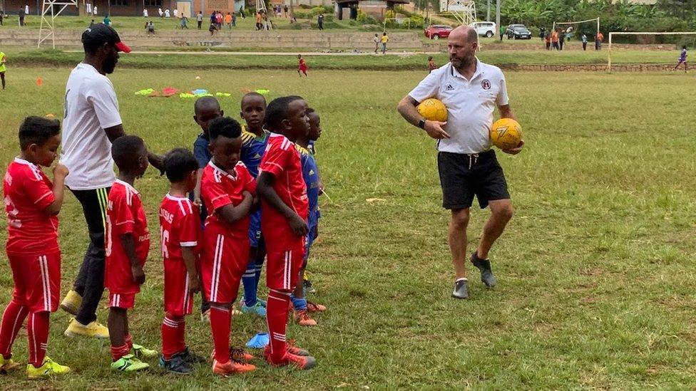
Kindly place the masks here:
<instances>
[{"instance_id":1,"label":"strip of grass bank running beyond the pitch's far edge","mask_svg":"<svg viewBox=\"0 0 696 391\"><path fill-rule=\"evenodd\" d=\"M7 66L11 73L17 67L55 67L74 66L83 58L82 53L53 50L29 50L19 48L4 49L7 54ZM244 53L218 53L204 56L194 53L121 55L119 66L122 68L144 69L295 69L297 54L306 51L288 52L286 55L257 56ZM312 52L309 52L312 53ZM363 70L363 71L421 71L426 69L429 54L404 54L402 56L308 56L310 71L328 70ZM598 51L496 51L483 50L478 58L503 68L518 64L606 64L607 53ZM613 63L672 63L676 54L670 51L614 51ZM434 55L437 64L447 63L445 53Z\"/></svg>"}]
</instances>

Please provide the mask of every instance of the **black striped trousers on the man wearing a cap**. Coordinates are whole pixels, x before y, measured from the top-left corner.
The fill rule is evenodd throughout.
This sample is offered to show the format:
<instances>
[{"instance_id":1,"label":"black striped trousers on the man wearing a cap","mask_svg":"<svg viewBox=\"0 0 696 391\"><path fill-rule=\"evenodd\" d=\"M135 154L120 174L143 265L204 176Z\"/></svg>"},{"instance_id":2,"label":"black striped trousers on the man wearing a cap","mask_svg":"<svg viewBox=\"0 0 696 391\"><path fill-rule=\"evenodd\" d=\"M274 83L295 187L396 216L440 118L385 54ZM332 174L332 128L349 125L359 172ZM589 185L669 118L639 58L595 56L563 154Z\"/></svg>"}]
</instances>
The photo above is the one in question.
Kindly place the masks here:
<instances>
[{"instance_id":1,"label":"black striped trousers on the man wearing a cap","mask_svg":"<svg viewBox=\"0 0 696 391\"><path fill-rule=\"evenodd\" d=\"M111 187L92 190L71 189L82 205L89 232L89 246L73 285L73 289L82 296L82 306L76 319L83 325L96 320L97 307L104 293L104 228L109 190Z\"/></svg>"}]
</instances>

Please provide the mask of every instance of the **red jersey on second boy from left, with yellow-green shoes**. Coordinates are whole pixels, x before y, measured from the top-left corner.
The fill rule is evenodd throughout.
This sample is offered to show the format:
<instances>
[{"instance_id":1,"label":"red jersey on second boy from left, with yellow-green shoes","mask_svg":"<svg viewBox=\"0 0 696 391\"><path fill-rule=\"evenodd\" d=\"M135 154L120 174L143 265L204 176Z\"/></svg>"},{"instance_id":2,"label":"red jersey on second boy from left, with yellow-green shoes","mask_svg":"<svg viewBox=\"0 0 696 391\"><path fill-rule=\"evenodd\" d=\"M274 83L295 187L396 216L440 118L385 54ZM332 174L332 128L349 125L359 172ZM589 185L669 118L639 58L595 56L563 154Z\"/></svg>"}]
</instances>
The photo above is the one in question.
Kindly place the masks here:
<instances>
[{"instance_id":1,"label":"red jersey on second boy from left, with yellow-green shoes","mask_svg":"<svg viewBox=\"0 0 696 391\"><path fill-rule=\"evenodd\" d=\"M135 256L145 266L150 250L148 220L145 218L140 193L130 184L116 179L108 195L106 208L106 271L104 286L111 293L136 293L140 286L133 282L131 261L121 246L121 235L131 234Z\"/></svg>"}]
</instances>

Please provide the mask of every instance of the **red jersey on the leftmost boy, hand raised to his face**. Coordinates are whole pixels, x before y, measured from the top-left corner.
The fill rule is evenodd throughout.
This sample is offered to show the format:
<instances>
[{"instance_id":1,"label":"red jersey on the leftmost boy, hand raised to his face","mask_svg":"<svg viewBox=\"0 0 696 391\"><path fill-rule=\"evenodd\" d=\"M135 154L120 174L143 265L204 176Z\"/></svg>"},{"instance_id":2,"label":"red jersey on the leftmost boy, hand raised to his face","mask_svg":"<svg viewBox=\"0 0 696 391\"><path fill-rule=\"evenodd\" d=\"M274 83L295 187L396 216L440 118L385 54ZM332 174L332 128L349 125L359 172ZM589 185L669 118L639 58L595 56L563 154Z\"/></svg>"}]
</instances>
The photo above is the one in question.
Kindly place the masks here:
<instances>
[{"instance_id":1,"label":"red jersey on the leftmost boy, hand raised to his face","mask_svg":"<svg viewBox=\"0 0 696 391\"><path fill-rule=\"evenodd\" d=\"M44 209L53 197L53 184L34 163L16 157L4 180L8 254L23 256L58 251L58 217Z\"/></svg>"}]
</instances>

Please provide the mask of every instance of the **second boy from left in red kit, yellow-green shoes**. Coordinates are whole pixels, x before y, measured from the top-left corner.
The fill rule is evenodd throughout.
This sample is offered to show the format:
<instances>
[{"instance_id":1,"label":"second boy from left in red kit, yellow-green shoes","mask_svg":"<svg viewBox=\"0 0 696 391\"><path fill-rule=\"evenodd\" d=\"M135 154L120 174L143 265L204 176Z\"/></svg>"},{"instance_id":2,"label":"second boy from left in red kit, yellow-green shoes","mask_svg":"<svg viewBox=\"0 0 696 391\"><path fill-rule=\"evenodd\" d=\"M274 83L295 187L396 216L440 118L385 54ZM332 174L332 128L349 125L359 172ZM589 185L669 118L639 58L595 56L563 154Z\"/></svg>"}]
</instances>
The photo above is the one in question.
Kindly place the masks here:
<instances>
[{"instance_id":1,"label":"second boy from left in red kit, yellow-green shoes","mask_svg":"<svg viewBox=\"0 0 696 391\"><path fill-rule=\"evenodd\" d=\"M128 309L133 308L135 293L140 292L140 285L145 282L143 266L150 250L143 202L133 187L135 178L142 177L148 168L148 148L140 137L128 135L114 140L111 155L118 167L106 207L104 286L109 290L111 369L134 372L150 367L136 356L157 355L154 350L134 345L128 328Z\"/></svg>"}]
</instances>

